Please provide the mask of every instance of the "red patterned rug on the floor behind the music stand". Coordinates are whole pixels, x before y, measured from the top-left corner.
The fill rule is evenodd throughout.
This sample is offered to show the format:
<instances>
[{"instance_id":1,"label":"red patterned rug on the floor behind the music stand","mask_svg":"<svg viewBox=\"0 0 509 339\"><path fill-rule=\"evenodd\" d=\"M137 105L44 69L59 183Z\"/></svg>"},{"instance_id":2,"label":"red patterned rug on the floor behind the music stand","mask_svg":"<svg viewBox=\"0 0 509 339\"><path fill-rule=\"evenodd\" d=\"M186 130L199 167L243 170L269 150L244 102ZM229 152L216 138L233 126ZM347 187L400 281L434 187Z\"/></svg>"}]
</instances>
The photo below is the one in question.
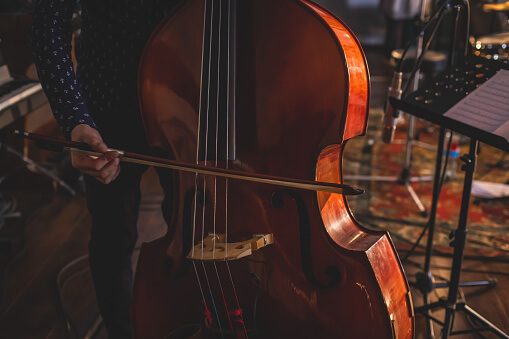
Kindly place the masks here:
<instances>
[{"instance_id":1,"label":"red patterned rug on the floor behind the music stand","mask_svg":"<svg viewBox=\"0 0 509 339\"><path fill-rule=\"evenodd\" d=\"M372 109L367 135L347 143L343 158L345 183L366 190L365 194L350 197L348 201L361 224L389 231L398 249L407 250L422 233L428 217L420 213L406 187L397 182L348 179L348 175L401 176L406 154L408 117L398 124L393 144L385 144L380 140L382 118L381 109ZM411 178L434 175L438 132L438 127L418 120L416 135L419 141L411 152ZM469 139L458 137L460 155L468 153ZM481 144L474 180L508 183L509 160L505 158L505 152ZM463 190L464 172L460 170L461 161L457 161L458 170L453 171L456 176L443 185L435 226L435 250L449 254L453 250L449 246L449 235L458 224ZM411 186L429 211L433 182L413 182ZM471 197L466 255L509 258L508 206L509 199L485 201ZM421 250L426 241L424 236L420 241Z\"/></svg>"}]
</instances>

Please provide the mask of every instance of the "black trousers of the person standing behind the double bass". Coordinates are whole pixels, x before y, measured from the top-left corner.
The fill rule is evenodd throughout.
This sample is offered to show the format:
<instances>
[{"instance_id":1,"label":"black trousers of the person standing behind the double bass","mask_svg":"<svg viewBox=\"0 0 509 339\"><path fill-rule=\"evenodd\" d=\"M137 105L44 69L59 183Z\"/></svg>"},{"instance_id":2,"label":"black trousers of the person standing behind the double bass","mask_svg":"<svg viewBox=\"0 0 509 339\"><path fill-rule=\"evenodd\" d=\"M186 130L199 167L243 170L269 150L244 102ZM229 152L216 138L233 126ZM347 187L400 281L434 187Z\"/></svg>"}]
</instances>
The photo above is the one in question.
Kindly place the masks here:
<instances>
[{"instance_id":1,"label":"black trousers of the person standing behind the double bass","mask_svg":"<svg viewBox=\"0 0 509 339\"><path fill-rule=\"evenodd\" d=\"M133 285L131 255L138 239L140 181L146 166L121 163L119 176L105 185L85 176L87 207L92 216L89 261L99 311L110 338L131 337L130 307ZM165 191L163 216L172 208L172 175L157 170Z\"/></svg>"}]
</instances>

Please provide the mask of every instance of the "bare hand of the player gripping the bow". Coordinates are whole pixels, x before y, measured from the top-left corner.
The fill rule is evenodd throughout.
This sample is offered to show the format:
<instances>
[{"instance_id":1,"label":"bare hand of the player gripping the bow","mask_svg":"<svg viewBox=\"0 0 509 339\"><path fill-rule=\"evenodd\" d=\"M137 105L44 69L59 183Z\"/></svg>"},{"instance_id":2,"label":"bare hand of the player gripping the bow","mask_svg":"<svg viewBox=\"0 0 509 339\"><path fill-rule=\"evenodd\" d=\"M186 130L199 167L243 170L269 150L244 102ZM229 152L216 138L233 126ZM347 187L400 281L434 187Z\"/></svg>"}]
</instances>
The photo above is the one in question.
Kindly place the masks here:
<instances>
[{"instance_id":1,"label":"bare hand of the player gripping the bow","mask_svg":"<svg viewBox=\"0 0 509 339\"><path fill-rule=\"evenodd\" d=\"M118 152L108 151L101 135L89 125L81 124L71 132L71 139L84 142L96 152L103 153L100 157L91 157L79 153L71 153L72 166L79 171L95 177L103 184L109 184L120 173L120 161Z\"/></svg>"}]
</instances>

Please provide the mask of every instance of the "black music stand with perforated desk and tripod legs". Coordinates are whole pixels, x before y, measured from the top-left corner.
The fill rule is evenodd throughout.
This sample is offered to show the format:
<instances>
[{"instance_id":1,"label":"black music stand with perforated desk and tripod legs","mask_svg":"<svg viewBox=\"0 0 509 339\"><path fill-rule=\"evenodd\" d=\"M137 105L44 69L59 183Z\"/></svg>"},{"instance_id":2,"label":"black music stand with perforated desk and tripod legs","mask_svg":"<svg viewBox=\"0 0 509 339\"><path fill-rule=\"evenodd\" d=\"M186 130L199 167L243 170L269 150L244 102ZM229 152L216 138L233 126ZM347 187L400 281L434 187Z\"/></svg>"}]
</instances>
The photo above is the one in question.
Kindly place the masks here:
<instances>
[{"instance_id":1,"label":"black music stand with perforated desk and tripod legs","mask_svg":"<svg viewBox=\"0 0 509 339\"><path fill-rule=\"evenodd\" d=\"M491 331L500 338L509 339L509 335L503 333L500 329L483 318L464 301L458 301L457 294L460 283L461 265L463 261L463 252L466 242L466 226L469 209L472 181L475 173L477 159L477 148L479 141L496 148L509 151L509 143L504 138L489 133L487 131L475 128L468 124L450 119L443 116L452 106L463 99L469 92L472 92L477 86L487 79L491 78L501 68L509 69L508 64L488 60L480 57L470 56L466 61L448 68L438 77L432 80L431 84L424 86L420 90L412 93L403 100L391 98L391 103L395 108L403 110L409 114L415 115L421 119L428 120L440 126L440 138L438 141L437 163L435 171L435 182L433 186L433 200L431 204L431 214L428 222L429 234L426 246L426 259L424 272L422 273L421 291L424 295L424 306L417 307L416 313L422 313L428 318L428 334L432 336L432 321L443 326L443 338L449 335L459 335L480 331ZM482 75L482 76L481 76ZM445 129L461 133L471 138L469 153L461 157L463 169L465 170L465 179L463 183L463 195L461 200L460 218L458 227L451 233L451 246L454 247L453 263L451 268L451 278L448 284L449 292L447 299L440 299L438 302L429 303L428 293L436 287L432 283L430 273L431 251L433 247L433 232L435 226L435 217L438 205L438 193L440 189L440 169L442 166L442 153ZM427 281L426 281L427 280ZM494 285L494 281L480 281L464 283L463 286ZM445 308L445 320L443 323L431 316L431 310L435 308ZM456 311L463 311L468 316L475 318L484 327L466 330L453 331L454 314Z\"/></svg>"}]
</instances>

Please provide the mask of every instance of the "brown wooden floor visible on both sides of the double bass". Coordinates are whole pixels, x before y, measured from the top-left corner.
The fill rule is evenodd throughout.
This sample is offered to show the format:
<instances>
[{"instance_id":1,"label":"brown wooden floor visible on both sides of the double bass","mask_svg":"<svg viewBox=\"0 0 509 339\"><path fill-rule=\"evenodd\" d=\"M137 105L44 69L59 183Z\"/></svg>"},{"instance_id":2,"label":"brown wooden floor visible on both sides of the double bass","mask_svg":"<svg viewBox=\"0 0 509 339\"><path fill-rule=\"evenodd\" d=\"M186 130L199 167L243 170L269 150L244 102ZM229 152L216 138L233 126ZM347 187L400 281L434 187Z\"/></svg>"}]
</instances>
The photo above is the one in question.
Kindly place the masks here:
<instances>
[{"instance_id":1,"label":"brown wooden floor visible on both sides of the double bass","mask_svg":"<svg viewBox=\"0 0 509 339\"><path fill-rule=\"evenodd\" d=\"M34 181L34 177L37 176L26 173L26 182ZM41 178L36 180L39 181ZM165 230L158 208L162 195L157 182L155 172L149 170L142 183L140 242L156 238ZM86 258L90 217L84 198L71 198L61 189L54 191L46 186L3 190L17 199L22 217L8 221L0 230L0 239L12 241L15 254L9 258L9 251L4 251L0 257L4 282L0 338L65 338L65 314L74 326L73 333L83 338L98 318ZM422 255L410 257L405 265L409 281L415 280L422 263ZM433 258L432 272L437 280L449 279L449 269L449 258ZM498 280L494 288L463 288L462 293L470 307L509 333L509 263L466 260L463 269L462 280ZM63 304L59 303L59 293ZM446 293L446 289L435 289L431 299L436 301ZM413 299L416 307L422 304L422 295L415 289ZM437 311L434 316L443 320L444 311ZM470 326L468 319L458 313L455 330ZM422 316L416 317L416 328L416 338L426 338ZM435 331L439 337L440 327L435 326ZM484 337L496 338L486 332ZM96 338L106 338L101 327Z\"/></svg>"}]
</instances>

